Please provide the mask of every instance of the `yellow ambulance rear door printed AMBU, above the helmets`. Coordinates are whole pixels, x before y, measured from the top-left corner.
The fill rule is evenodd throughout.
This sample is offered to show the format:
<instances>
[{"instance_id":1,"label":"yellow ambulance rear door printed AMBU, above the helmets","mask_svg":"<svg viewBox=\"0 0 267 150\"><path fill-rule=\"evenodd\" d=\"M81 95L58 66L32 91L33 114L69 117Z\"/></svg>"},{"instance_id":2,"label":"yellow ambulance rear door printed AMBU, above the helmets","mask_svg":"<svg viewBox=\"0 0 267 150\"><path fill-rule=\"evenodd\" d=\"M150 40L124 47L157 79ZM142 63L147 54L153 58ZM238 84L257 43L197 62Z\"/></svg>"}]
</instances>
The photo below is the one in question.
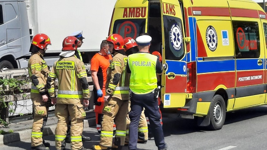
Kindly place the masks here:
<instances>
[{"instance_id":1,"label":"yellow ambulance rear door printed AMBU, above the helmets","mask_svg":"<svg viewBox=\"0 0 267 150\"><path fill-rule=\"evenodd\" d=\"M110 25L110 34L120 34L123 39L136 39L145 33L148 18L148 1L118 0L115 4Z\"/></svg>"}]
</instances>

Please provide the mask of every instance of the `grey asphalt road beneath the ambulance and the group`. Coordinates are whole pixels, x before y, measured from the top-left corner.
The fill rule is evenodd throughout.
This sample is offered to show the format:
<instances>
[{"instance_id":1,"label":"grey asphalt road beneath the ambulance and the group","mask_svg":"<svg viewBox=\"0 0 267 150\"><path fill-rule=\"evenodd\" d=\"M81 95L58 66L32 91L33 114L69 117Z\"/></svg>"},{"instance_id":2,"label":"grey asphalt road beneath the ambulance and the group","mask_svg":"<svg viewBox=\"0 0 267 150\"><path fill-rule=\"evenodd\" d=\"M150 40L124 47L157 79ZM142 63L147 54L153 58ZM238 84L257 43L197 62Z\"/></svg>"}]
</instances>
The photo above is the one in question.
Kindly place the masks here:
<instances>
[{"instance_id":1,"label":"grey asphalt road beneath the ambulance and the group","mask_svg":"<svg viewBox=\"0 0 267 150\"><path fill-rule=\"evenodd\" d=\"M197 127L194 120L163 118L163 130L168 150L266 150L267 106L229 112L221 130L209 131ZM86 128L84 135L92 141L84 142L85 148L98 144L100 137L95 128ZM30 137L29 137L30 138ZM55 136L45 136L55 150ZM154 141L138 144L139 150L157 150ZM67 144L70 149L70 144ZM30 150L30 139L0 146L0 150ZM127 150L123 147L123 150Z\"/></svg>"}]
</instances>

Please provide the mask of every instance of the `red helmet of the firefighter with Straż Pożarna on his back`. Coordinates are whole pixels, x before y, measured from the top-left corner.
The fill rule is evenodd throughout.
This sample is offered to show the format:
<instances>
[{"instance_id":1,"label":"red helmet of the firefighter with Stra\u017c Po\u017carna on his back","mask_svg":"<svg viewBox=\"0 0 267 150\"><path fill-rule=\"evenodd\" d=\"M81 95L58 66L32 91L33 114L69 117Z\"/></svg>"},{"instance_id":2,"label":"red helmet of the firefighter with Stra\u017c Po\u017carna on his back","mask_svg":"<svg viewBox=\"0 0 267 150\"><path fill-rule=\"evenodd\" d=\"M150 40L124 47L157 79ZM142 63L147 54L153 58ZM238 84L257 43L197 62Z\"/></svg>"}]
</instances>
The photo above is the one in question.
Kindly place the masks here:
<instances>
[{"instance_id":1,"label":"red helmet of the firefighter with Stra\u017c Po\u017carna on his back","mask_svg":"<svg viewBox=\"0 0 267 150\"><path fill-rule=\"evenodd\" d=\"M78 43L80 43L80 40L78 40L74 36L67 36L62 43L62 51L63 50L77 50Z\"/></svg>"}]
</instances>

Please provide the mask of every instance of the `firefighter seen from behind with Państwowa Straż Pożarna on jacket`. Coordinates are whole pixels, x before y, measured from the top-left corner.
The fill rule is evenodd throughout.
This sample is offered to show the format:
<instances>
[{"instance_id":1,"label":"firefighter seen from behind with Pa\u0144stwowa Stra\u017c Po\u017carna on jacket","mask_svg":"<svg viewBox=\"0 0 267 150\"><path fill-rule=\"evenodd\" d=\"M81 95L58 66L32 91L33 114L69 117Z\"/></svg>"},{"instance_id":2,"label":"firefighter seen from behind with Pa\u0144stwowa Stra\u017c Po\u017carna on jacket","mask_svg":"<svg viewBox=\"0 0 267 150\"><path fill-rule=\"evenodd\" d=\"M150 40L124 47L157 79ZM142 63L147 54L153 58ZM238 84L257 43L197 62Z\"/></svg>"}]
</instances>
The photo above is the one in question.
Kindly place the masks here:
<instances>
[{"instance_id":1,"label":"firefighter seen from behind with Pa\u0144stwowa Stra\u017c Po\u017carna on jacket","mask_svg":"<svg viewBox=\"0 0 267 150\"><path fill-rule=\"evenodd\" d=\"M47 79L47 88L58 118L55 129L56 149L66 138L67 124L71 118L71 149L84 150L82 147L83 119L86 116L84 106L89 105L90 90L83 62L74 56L79 40L68 36L63 40L60 59L55 62ZM55 79L58 79L57 99L55 98ZM84 106L83 106L84 105Z\"/></svg>"}]
</instances>

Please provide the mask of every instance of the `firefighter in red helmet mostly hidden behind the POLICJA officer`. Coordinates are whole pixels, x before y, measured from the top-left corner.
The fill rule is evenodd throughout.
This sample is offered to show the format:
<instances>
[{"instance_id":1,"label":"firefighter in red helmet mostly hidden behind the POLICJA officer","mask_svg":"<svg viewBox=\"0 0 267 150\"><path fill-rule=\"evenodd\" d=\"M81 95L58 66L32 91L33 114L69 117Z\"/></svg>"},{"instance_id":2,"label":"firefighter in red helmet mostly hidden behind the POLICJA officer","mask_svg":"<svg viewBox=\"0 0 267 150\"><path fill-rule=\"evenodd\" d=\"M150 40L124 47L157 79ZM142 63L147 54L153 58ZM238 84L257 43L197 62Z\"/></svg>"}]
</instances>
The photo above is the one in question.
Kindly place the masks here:
<instances>
[{"instance_id":1,"label":"firefighter in red helmet mostly hidden behind the POLICJA officer","mask_svg":"<svg viewBox=\"0 0 267 150\"><path fill-rule=\"evenodd\" d=\"M126 55L130 54L135 54L137 53L138 47L133 38L127 37L124 40L124 49ZM129 101L129 106L128 106L128 112L131 111L131 102ZM125 137L125 145L128 145L129 143L129 124L130 124L130 118L129 115L127 114L126 118L126 137ZM144 115L144 110L141 113L140 121L139 121L139 126L138 126L138 143L146 143L148 140L148 126L147 126L147 120Z\"/></svg>"}]
</instances>

